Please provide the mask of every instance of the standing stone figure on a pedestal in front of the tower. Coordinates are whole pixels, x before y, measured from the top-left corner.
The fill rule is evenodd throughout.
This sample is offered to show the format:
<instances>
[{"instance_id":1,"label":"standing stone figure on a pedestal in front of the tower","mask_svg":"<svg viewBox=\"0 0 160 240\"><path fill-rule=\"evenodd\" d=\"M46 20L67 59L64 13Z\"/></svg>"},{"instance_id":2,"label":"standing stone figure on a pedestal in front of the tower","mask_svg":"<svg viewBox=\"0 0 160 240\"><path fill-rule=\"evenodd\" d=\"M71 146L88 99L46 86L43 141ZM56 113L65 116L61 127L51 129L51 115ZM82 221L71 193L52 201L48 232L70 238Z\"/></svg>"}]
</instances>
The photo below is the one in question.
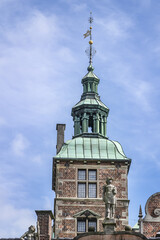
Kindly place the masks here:
<instances>
[{"instance_id":1,"label":"standing stone figure on a pedestal in front of the tower","mask_svg":"<svg viewBox=\"0 0 160 240\"><path fill-rule=\"evenodd\" d=\"M113 219L115 216L115 206L116 206L116 187L112 184L112 179L107 178L106 185L103 187L103 201L106 206L106 219Z\"/></svg>"}]
</instances>

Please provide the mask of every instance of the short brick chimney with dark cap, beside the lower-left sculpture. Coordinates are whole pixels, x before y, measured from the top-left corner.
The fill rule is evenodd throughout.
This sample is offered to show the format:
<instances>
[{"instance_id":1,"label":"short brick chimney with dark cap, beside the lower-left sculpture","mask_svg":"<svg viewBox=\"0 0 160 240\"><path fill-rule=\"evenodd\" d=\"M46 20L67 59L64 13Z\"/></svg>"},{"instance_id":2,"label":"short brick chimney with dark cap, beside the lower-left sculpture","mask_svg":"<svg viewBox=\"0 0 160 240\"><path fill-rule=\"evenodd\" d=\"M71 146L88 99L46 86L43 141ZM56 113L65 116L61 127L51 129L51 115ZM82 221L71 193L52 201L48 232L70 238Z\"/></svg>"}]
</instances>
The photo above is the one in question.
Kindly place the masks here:
<instances>
[{"instance_id":1,"label":"short brick chimney with dark cap, beside the lower-left sculpture","mask_svg":"<svg viewBox=\"0 0 160 240\"><path fill-rule=\"evenodd\" d=\"M52 219L53 213L50 210L36 210L37 222L39 223L40 236L39 240L52 239Z\"/></svg>"}]
</instances>

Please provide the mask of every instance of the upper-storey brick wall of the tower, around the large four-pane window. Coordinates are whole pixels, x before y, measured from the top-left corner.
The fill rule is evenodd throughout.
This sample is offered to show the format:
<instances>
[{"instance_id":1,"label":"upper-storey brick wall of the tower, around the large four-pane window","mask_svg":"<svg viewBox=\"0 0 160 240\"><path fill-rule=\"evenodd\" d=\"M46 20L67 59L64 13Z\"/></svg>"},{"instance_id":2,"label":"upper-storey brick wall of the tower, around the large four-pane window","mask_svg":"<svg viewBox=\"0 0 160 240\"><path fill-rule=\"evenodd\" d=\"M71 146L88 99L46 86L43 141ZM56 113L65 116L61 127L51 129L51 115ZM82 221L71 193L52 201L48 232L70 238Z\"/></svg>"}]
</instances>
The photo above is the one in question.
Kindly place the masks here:
<instances>
[{"instance_id":1,"label":"upper-storey brick wall of the tower, around the large four-pane window","mask_svg":"<svg viewBox=\"0 0 160 240\"><path fill-rule=\"evenodd\" d=\"M83 169L97 169L98 171L98 195L102 197L102 189L105 184L107 177L113 179L113 185L117 188L117 198L128 198L128 188L127 188L127 166L117 169L113 165L106 165L105 169L99 167L94 167L93 165L83 166ZM77 182L77 170L80 166L75 166L71 164L69 167L65 167L65 164L59 164L57 166L57 197L76 197L76 182ZM71 181L69 181L71 180Z\"/></svg>"}]
</instances>

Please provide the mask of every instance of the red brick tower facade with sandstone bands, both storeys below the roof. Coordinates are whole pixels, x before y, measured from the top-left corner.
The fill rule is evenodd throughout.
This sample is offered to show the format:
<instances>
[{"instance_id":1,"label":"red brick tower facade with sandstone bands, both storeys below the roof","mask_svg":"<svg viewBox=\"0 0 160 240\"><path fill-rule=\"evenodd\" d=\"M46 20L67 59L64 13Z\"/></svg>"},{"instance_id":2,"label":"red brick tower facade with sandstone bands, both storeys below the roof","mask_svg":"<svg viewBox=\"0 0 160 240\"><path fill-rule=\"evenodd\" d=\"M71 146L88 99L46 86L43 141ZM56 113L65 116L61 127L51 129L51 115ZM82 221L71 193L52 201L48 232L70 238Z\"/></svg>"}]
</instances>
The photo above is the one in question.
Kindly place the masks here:
<instances>
[{"instance_id":1,"label":"red brick tower facade with sandstone bands, both storeys below the roof","mask_svg":"<svg viewBox=\"0 0 160 240\"><path fill-rule=\"evenodd\" d=\"M73 238L77 235L77 217L74 215L83 211L90 210L97 214L97 231L102 232L102 222L105 218L105 204L102 200L103 186L106 179L112 178L113 185L117 188L116 194L116 230L124 230L128 224L128 164L127 162L119 163L118 167L115 162L79 162L75 160L72 163L59 161L54 163L56 170L55 183L55 237ZM97 197L96 198L78 198L78 170L96 170L97 171ZM89 216L93 218L93 216Z\"/></svg>"}]
</instances>

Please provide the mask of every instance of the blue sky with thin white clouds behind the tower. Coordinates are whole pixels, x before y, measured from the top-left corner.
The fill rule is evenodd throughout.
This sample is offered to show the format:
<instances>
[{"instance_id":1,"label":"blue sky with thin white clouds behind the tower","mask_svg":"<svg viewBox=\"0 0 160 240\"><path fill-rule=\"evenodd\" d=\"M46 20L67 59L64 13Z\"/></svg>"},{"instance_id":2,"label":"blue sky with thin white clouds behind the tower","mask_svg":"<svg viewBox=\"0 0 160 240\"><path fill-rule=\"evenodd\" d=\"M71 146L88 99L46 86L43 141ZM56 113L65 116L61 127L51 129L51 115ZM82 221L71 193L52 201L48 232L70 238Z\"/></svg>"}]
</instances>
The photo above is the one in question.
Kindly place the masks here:
<instances>
[{"instance_id":1,"label":"blue sky with thin white clouds behind the tower","mask_svg":"<svg viewBox=\"0 0 160 240\"><path fill-rule=\"evenodd\" d=\"M129 224L160 191L160 1L0 0L0 237L20 237L53 210L56 123L73 135L92 11L107 135L132 159Z\"/></svg>"}]
</instances>

